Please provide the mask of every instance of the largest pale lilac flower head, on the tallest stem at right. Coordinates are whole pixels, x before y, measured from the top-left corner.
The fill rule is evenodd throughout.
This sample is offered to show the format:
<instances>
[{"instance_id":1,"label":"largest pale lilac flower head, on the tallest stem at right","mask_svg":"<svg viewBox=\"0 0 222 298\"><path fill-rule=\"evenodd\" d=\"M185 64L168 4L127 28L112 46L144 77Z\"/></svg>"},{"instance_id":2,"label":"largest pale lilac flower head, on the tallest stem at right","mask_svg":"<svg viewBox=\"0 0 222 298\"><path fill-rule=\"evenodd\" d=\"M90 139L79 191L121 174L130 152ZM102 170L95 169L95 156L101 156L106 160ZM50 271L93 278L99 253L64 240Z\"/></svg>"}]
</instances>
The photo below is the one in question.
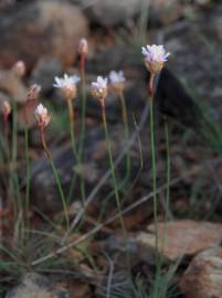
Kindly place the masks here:
<instances>
[{"instance_id":1,"label":"largest pale lilac flower head, on the tallest stem at right","mask_svg":"<svg viewBox=\"0 0 222 298\"><path fill-rule=\"evenodd\" d=\"M167 53L163 45L146 45L141 47L141 53L145 56L145 65L151 74L159 73L170 53Z\"/></svg>"}]
</instances>

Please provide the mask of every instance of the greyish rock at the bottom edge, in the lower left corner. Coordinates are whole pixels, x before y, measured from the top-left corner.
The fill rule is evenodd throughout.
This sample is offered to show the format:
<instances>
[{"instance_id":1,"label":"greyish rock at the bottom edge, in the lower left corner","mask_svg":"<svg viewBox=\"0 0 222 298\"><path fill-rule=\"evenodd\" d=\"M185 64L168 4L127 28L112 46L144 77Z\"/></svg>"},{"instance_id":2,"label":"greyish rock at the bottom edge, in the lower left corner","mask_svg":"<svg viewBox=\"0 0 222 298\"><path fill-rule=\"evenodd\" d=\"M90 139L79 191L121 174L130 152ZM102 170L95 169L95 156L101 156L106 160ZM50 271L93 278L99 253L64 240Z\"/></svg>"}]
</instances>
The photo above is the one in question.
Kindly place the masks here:
<instances>
[{"instance_id":1,"label":"greyish rock at the bottom edge, in the lower left corner","mask_svg":"<svg viewBox=\"0 0 222 298\"><path fill-rule=\"evenodd\" d=\"M25 274L18 286L12 288L6 298L68 298L66 290L59 288L49 278L35 274Z\"/></svg>"}]
</instances>

